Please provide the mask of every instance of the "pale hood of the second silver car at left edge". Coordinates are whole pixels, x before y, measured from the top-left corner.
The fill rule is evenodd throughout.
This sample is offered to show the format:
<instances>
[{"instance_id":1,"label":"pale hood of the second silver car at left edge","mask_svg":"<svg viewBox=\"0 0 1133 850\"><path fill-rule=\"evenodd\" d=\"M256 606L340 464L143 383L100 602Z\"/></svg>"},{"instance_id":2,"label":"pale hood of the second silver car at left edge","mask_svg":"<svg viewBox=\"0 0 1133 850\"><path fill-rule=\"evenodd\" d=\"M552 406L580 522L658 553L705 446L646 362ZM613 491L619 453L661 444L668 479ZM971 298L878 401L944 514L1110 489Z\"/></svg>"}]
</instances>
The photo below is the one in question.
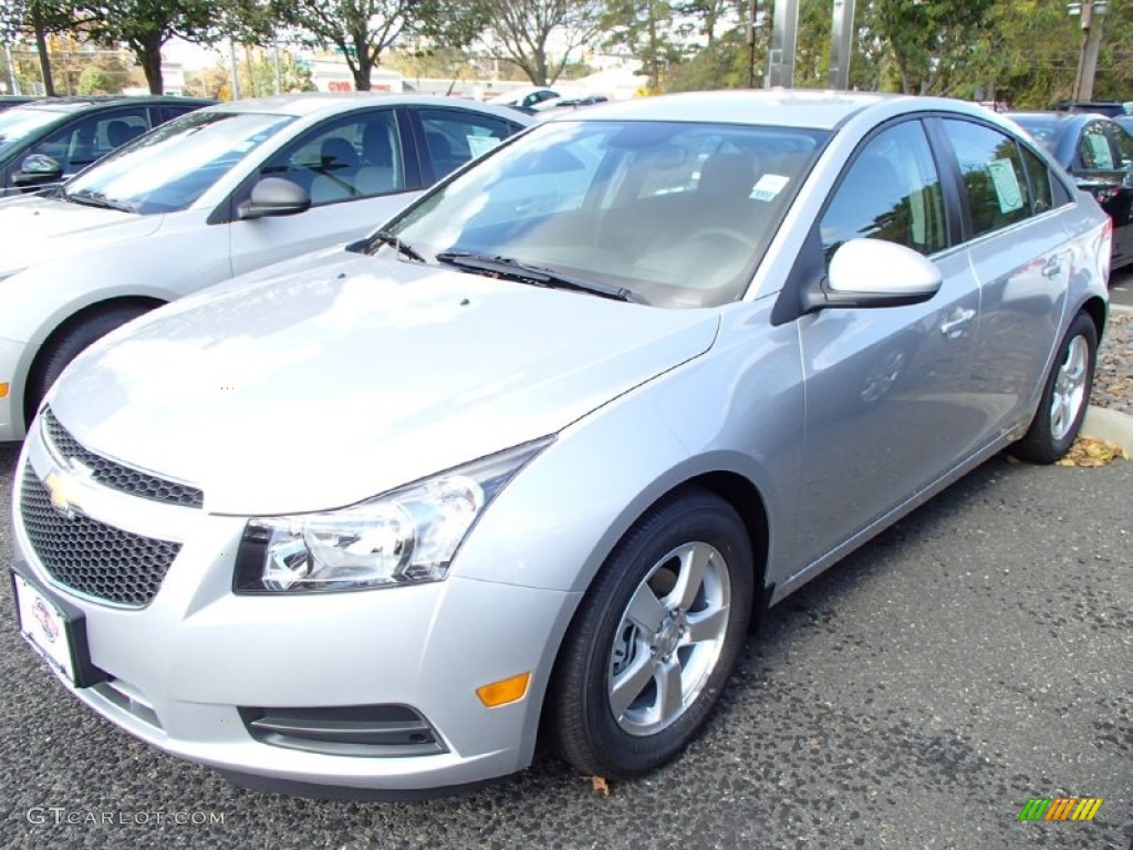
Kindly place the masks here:
<instances>
[{"instance_id":1,"label":"pale hood of the second silver car at left edge","mask_svg":"<svg viewBox=\"0 0 1133 850\"><path fill-rule=\"evenodd\" d=\"M140 239L161 224L160 215L134 215L27 195L0 201L0 274L26 269L109 241Z\"/></svg>"}]
</instances>

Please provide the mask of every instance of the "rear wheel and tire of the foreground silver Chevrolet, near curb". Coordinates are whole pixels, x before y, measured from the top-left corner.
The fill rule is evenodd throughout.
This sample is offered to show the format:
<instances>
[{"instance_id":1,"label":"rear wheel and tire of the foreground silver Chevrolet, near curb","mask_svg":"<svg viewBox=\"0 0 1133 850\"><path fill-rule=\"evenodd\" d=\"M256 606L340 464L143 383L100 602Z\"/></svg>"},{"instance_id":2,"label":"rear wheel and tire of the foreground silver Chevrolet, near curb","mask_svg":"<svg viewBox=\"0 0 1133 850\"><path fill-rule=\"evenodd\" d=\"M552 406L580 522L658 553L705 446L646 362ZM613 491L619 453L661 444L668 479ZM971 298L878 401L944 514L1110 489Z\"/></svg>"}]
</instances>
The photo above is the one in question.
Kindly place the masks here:
<instances>
[{"instance_id":1,"label":"rear wheel and tire of the foreground silver Chevrolet, near curb","mask_svg":"<svg viewBox=\"0 0 1133 850\"><path fill-rule=\"evenodd\" d=\"M1098 329L1079 313L1058 346L1031 427L1012 449L1015 457L1053 464L1070 451L1085 418L1097 363Z\"/></svg>"}]
</instances>

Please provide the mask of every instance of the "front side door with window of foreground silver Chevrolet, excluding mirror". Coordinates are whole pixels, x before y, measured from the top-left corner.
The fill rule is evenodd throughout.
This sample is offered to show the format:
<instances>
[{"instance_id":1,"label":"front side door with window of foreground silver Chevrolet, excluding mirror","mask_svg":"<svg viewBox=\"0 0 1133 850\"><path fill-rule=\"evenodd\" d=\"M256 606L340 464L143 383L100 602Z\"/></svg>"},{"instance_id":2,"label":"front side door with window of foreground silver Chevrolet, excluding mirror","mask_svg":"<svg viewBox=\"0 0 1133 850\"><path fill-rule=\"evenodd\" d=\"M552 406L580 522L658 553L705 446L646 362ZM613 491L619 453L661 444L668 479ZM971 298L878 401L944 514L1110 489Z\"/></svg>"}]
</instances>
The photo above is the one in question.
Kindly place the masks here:
<instances>
[{"instance_id":1,"label":"front side door with window of foreground silver Chevrolet, excluding mirror","mask_svg":"<svg viewBox=\"0 0 1133 850\"><path fill-rule=\"evenodd\" d=\"M825 308L798 320L802 563L880 519L985 439L986 422L965 393L979 288L966 250L949 236L942 173L920 120L887 126L859 147L812 237L826 262L849 239L905 245L931 257L943 284L918 305Z\"/></svg>"}]
</instances>

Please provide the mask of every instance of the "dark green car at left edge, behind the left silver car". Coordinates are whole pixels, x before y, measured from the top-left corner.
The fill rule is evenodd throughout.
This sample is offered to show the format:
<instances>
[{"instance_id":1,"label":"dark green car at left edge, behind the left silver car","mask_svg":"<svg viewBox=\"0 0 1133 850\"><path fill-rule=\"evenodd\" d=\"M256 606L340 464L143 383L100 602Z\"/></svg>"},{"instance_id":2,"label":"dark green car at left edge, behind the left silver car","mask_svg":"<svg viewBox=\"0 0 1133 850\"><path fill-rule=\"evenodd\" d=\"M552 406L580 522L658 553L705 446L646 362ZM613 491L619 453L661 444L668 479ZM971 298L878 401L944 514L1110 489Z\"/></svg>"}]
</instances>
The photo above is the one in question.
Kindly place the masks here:
<instances>
[{"instance_id":1,"label":"dark green car at left edge, behind the left silver car","mask_svg":"<svg viewBox=\"0 0 1133 850\"><path fill-rule=\"evenodd\" d=\"M153 127L213 101L48 97L0 114L0 197L40 192Z\"/></svg>"}]
</instances>

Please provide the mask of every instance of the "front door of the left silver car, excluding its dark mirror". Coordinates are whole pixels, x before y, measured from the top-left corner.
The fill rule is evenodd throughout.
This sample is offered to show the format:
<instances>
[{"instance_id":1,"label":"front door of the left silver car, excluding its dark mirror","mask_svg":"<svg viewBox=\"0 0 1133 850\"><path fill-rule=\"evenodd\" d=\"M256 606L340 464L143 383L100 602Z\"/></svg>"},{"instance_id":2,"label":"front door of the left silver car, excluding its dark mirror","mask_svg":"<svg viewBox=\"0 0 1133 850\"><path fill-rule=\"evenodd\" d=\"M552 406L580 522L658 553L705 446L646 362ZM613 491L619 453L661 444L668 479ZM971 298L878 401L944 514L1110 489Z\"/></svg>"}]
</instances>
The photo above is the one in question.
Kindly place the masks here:
<instances>
[{"instance_id":1,"label":"front door of the left silver car, excluding its dark mirror","mask_svg":"<svg viewBox=\"0 0 1133 850\"><path fill-rule=\"evenodd\" d=\"M233 221L232 273L259 269L373 231L420 193L416 159L406 151L404 114L386 107L329 118L269 158L257 177L303 186L310 209L296 215ZM247 197L254 181L237 193Z\"/></svg>"}]
</instances>

